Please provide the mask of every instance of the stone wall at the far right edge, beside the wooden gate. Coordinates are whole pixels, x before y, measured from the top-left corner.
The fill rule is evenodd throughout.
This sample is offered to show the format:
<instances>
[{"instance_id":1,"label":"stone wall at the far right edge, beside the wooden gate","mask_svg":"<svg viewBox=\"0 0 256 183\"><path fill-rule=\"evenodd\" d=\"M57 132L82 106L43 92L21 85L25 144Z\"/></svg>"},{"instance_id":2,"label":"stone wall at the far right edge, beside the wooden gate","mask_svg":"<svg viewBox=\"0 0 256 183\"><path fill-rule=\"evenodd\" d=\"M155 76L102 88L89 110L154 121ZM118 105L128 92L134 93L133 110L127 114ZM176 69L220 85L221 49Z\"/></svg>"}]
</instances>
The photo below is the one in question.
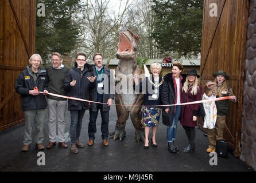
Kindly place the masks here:
<instances>
[{"instance_id":1,"label":"stone wall at the far right edge, beside the wooden gate","mask_svg":"<svg viewBox=\"0 0 256 183\"><path fill-rule=\"evenodd\" d=\"M242 110L240 159L256 170L256 0L249 7Z\"/></svg>"}]
</instances>

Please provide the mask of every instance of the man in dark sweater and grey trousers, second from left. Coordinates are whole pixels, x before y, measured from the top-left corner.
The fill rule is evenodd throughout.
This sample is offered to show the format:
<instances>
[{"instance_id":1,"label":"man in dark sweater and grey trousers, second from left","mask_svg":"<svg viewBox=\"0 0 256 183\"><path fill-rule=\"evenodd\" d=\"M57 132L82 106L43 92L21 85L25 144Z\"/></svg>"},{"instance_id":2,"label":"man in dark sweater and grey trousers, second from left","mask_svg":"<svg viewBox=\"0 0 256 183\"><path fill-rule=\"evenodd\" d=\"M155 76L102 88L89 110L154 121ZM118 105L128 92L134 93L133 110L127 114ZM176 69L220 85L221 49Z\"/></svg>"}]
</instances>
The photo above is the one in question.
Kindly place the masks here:
<instances>
[{"instance_id":1,"label":"man in dark sweater and grey trousers, second from left","mask_svg":"<svg viewBox=\"0 0 256 183\"><path fill-rule=\"evenodd\" d=\"M54 52L52 53L52 65L46 68L48 76L49 92L65 95L64 80L69 71L67 66L62 64L62 55ZM47 109L48 109L48 126L49 126L49 144L46 148L50 149L56 145L56 122L58 123L59 146L67 148L65 144L64 130L65 121L64 116L67 110L67 99L47 95Z\"/></svg>"}]
</instances>

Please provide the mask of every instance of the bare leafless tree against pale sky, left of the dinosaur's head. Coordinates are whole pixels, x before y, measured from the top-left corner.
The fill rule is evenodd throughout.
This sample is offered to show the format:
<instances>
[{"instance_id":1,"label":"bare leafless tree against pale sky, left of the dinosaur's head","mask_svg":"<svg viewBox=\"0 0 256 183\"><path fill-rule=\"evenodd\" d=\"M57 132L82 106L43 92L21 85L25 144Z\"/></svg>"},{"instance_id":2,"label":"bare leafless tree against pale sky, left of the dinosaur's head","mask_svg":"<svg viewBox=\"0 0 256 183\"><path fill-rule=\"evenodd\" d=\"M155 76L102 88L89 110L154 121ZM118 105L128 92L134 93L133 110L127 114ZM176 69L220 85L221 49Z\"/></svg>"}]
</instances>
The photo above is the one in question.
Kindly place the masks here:
<instances>
[{"instance_id":1,"label":"bare leafless tree against pale sky, left of the dinosaur's head","mask_svg":"<svg viewBox=\"0 0 256 183\"><path fill-rule=\"evenodd\" d=\"M125 13L131 0L119 1L118 12L110 8L111 0L86 0L82 2L82 12L77 21L83 27L80 41L74 53L84 51L90 57L94 53L102 53L107 64L115 54L118 43L118 32L123 26Z\"/></svg>"}]
</instances>

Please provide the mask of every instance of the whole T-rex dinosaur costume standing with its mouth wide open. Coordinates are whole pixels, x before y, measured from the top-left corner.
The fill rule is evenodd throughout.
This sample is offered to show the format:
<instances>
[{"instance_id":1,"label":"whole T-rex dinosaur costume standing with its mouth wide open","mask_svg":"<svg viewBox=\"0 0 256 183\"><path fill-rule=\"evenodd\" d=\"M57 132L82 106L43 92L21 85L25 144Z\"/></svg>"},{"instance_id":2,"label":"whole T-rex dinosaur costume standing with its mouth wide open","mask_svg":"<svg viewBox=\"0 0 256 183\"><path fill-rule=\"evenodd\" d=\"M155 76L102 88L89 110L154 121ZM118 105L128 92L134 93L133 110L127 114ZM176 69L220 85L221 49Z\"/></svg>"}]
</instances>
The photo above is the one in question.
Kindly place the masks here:
<instances>
[{"instance_id":1,"label":"whole T-rex dinosaur costume standing with its mouth wide open","mask_svg":"<svg viewBox=\"0 0 256 183\"><path fill-rule=\"evenodd\" d=\"M121 105L143 105L143 94L135 94L133 89L133 77L143 73L137 65L136 50L139 36L129 29L123 29L119 33L117 58L119 63L115 70L115 104L117 109L117 124L114 132L114 140L125 137L126 121L130 118L135 128L135 140L145 141L145 131L141 124L141 107L119 106ZM142 78L141 78L142 79Z\"/></svg>"}]
</instances>

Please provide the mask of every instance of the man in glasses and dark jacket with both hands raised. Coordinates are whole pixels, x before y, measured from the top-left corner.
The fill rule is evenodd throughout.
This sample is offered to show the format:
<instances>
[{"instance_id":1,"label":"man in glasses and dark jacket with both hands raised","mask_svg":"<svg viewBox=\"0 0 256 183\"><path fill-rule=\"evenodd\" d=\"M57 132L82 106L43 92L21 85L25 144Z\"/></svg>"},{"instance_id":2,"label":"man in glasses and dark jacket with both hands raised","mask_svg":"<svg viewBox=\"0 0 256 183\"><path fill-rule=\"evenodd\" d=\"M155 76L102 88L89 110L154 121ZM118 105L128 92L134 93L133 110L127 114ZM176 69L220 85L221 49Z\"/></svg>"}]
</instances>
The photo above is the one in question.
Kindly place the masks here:
<instances>
[{"instance_id":1,"label":"man in glasses and dark jacket with both hands raised","mask_svg":"<svg viewBox=\"0 0 256 183\"><path fill-rule=\"evenodd\" d=\"M96 76L93 76L92 71L92 66L86 63L86 55L83 53L77 54L75 66L68 71L65 78L64 89L67 92L67 96L90 100L90 90L95 87L96 78ZM68 100L68 110L71 116L70 151L72 153L79 153L77 148L84 148L82 142L79 141L79 137L86 109L89 109L88 102Z\"/></svg>"}]
</instances>

